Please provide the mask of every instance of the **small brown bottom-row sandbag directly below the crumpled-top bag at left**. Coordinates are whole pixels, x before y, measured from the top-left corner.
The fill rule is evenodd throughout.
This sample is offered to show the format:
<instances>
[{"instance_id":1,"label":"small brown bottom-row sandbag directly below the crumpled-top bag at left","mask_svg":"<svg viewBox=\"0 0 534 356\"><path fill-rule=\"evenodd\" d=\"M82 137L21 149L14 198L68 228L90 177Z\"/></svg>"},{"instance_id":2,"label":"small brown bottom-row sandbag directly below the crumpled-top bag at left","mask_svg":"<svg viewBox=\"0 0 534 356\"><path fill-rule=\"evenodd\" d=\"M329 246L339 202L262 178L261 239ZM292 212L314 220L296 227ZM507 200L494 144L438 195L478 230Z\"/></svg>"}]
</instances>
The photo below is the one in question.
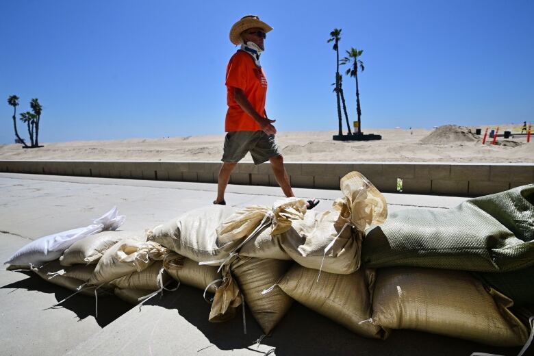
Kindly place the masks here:
<instances>
[{"instance_id":1,"label":"small brown bottom-row sandbag directly below the crumpled-top bag at left","mask_svg":"<svg viewBox=\"0 0 534 356\"><path fill-rule=\"evenodd\" d=\"M110 284L120 289L158 290L170 280L168 273L162 269L163 261L155 261L141 272L131 272L114 279Z\"/></svg>"}]
</instances>

